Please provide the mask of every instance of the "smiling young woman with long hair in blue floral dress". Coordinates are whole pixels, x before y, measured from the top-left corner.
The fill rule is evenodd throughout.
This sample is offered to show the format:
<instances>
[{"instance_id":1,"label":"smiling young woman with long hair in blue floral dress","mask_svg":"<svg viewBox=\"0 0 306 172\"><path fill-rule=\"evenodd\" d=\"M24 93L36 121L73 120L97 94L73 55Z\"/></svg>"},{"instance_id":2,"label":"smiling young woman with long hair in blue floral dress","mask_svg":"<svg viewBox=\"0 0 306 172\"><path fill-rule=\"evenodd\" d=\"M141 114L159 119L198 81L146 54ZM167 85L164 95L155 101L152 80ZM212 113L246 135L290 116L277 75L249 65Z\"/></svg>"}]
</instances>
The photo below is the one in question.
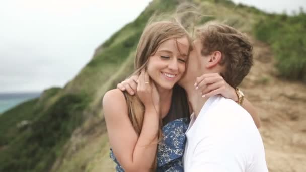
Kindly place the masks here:
<instances>
[{"instance_id":1,"label":"smiling young woman with long hair in blue floral dress","mask_svg":"<svg viewBox=\"0 0 306 172\"><path fill-rule=\"evenodd\" d=\"M183 171L190 112L186 93L176 83L190 50L191 39L178 23L147 26L135 58L136 95L118 89L105 94L103 111L117 171Z\"/></svg>"}]
</instances>

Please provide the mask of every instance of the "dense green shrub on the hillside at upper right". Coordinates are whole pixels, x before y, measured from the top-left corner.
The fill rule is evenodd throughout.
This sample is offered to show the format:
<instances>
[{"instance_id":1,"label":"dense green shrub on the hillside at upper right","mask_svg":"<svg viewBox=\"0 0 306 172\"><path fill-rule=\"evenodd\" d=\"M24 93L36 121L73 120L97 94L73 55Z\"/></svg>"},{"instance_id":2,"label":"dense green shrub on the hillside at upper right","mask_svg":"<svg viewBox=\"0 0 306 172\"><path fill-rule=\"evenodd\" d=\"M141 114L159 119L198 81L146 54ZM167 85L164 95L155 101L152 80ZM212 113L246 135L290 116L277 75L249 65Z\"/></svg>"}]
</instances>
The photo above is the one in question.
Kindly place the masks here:
<instances>
[{"instance_id":1,"label":"dense green shrub on the hillside at upper right","mask_svg":"<svg viewBox=\"0 0 306 172\"><path fill-rule=\"evenodd\" d=\"M254 29L257 39L271 45L281 76L306 82L306 13L269 15Z\"/></svg>"}]
</instances>

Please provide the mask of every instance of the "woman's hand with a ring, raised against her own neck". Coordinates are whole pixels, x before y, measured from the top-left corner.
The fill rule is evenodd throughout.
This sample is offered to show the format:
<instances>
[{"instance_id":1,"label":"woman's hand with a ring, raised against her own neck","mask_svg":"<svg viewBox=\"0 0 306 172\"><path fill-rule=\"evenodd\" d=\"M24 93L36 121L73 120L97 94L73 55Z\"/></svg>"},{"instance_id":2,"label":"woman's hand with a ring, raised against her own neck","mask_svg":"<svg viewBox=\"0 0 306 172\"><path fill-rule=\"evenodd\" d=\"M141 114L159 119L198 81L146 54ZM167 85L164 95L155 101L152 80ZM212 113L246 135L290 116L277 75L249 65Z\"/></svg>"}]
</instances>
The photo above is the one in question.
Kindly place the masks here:
<instances>
[{"instance_id":1,"label":"woman's hand with a ring, raised against her own neck","mask_svg":"<svg viewBox=\"0 0 306 172\"><path fill-rule=\"evenodd\" d=\"M154 108L159 112L160 97L149 74L143 69L138 78L137 95L146 110Z\"/></svg>"}]
</instances>

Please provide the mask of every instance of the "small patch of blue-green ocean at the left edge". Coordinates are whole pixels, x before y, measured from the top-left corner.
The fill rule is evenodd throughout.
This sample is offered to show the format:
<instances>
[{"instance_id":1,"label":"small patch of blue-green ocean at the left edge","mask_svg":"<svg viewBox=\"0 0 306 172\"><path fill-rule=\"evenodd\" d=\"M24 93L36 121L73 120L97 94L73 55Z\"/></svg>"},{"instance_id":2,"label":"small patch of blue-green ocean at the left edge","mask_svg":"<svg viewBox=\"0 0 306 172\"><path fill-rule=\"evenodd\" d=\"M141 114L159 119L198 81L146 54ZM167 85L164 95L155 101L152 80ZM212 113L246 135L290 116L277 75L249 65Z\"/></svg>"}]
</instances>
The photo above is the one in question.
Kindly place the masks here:
<instances>
[{"instance_id":1,"label":"small patch of blue-green ocean at the left edge","mask_svg":"<svg viewBox=\"0 0 306 172\"><path fill-rule=\"evenodd\" d=\"M16 105L40 96L40 92L31 93L0 93L0 115L1 113L15 107Z\"/></svg>"}]
</instances>

